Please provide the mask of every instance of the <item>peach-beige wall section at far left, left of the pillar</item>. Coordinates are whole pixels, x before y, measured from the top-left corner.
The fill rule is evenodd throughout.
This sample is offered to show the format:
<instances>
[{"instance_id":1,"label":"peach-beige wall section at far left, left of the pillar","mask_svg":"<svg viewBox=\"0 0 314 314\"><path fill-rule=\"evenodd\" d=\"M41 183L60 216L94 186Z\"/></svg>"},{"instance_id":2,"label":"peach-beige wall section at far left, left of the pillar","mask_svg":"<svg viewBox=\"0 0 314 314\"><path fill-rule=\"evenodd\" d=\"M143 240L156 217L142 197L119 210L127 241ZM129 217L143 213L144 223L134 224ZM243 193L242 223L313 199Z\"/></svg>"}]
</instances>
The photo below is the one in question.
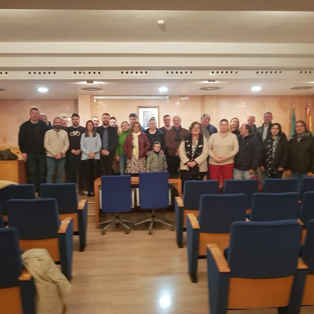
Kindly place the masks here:
<instances>
[{"instance_id":1,"label":"peach-beige wall section at far left, left of the pillar","mask_svg":"<svg viewBox=\"0 0 314 314\"><path fill-rule=\"evenodd\" d=\"M0 146L16 146L20 125L30 118L30 108L37 107L52 121L58 115L78 111L77 100L0 100Z\"/></svg>"}]
</instances>

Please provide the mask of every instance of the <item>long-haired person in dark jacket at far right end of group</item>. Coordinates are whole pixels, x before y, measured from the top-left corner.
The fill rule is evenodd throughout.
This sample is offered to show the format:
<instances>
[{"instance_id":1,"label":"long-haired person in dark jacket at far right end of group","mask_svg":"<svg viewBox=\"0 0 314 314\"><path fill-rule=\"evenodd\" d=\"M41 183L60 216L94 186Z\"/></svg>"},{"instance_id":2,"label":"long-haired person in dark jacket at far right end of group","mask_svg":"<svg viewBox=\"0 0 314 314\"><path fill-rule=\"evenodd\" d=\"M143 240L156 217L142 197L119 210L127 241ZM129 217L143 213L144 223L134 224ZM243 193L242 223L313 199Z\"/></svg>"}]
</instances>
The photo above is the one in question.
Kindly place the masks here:
<instances>
[{"instance_id":1,"label":"long-haired person in dark jacket at far right end of group","mask_svg":"<svg viewBox=\"0 0 314 314\"><path fill-rule=\"evenodd\" d=\"M287 174L298 179L300 188L302 178L314 176L314 138L302 120L295 122L295 133L288 144Z\"/></svg>"}]
</instances>

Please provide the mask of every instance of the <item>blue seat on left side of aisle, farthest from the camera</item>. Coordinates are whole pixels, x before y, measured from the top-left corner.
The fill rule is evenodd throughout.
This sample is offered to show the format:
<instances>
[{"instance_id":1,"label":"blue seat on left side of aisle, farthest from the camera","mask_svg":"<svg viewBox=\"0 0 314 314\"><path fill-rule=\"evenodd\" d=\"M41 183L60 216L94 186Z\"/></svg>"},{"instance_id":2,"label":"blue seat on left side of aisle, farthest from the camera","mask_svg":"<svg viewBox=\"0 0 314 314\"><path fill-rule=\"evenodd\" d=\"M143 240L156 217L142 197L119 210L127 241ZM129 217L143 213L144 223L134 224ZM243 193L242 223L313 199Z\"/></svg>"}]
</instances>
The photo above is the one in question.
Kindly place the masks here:
<instances>
[{"instance_id":1,"label":"blue seat on left side of aisle, farthest from the camera","mask_svg":"<svg viewBox=\"0 0 314 314\"><path fill-rule=\"evenodd\" d=\"M79 236L79 252L86 248L87 237L87 200L78 203L76 183L44 183L40 187L41 198L55 198L58 204L59 218L73 218L73 235Z\"/></svg>"}]
</instances>

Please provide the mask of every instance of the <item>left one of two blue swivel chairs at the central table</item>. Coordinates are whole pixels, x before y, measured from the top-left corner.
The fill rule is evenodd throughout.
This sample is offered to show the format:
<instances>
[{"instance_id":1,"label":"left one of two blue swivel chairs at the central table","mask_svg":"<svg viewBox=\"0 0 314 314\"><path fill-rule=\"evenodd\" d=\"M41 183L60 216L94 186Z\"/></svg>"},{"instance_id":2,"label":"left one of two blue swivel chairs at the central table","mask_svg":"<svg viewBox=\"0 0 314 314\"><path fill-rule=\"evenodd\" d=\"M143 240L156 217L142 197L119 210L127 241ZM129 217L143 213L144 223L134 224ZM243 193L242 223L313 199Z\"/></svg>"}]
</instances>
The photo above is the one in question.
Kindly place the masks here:
<instances>
[{"instance_id":1,"label":"left one of two blue swivel chairs at the central table","mask_svg":"<svg viewBox=\"0 0 314 314\"><path fill-rule=\"evenodd\" d=\"M106 234L106 229L114 223L117 227L121 224L125 233L129 234L130 227L125 222L134 224L134 221L122 219L119 214L131 211L131 176L102 176L101 196L102 212L116 214L116 218L100 222L99 228L103 228L101 234Z\"/></svg>"}]
</instances>

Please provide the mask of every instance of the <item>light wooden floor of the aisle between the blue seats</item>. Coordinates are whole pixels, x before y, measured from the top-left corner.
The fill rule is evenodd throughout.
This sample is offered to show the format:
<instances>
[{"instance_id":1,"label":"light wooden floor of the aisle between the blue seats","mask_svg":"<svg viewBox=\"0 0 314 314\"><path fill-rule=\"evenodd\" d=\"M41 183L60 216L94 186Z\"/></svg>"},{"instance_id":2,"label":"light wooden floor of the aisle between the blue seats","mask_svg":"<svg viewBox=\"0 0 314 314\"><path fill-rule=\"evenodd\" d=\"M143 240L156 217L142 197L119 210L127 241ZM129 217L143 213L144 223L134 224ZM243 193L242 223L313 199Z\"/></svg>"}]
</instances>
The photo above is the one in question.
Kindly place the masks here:
<instances>
[{"instance_id":1,"label":"light wooden floor of the aisle between the blue seats","mask_svg":"<svg viewBox=\"0 0 314 314\"><path fill-rule=\"evenodd\" d=\"M89 214L93 210L89 204ZM159 214L161 219L164 216ZM173 213L166 218L174 223ZM148 234L148 225L128 235L116 228L101 235L94 219L89 216L85 252L78 252L78 236L73 238L73 290L66 298L67 313L209 313L206 260L199 260L198 283L193 284L187 273L187 248L177 248L175 231L157 224L153 235ZM138 221L136 215L133 220ZM228 313L275 314L277 310ZM314 306L303 307L300 313L314 313Z\"/></svg>"}]
</instances>

